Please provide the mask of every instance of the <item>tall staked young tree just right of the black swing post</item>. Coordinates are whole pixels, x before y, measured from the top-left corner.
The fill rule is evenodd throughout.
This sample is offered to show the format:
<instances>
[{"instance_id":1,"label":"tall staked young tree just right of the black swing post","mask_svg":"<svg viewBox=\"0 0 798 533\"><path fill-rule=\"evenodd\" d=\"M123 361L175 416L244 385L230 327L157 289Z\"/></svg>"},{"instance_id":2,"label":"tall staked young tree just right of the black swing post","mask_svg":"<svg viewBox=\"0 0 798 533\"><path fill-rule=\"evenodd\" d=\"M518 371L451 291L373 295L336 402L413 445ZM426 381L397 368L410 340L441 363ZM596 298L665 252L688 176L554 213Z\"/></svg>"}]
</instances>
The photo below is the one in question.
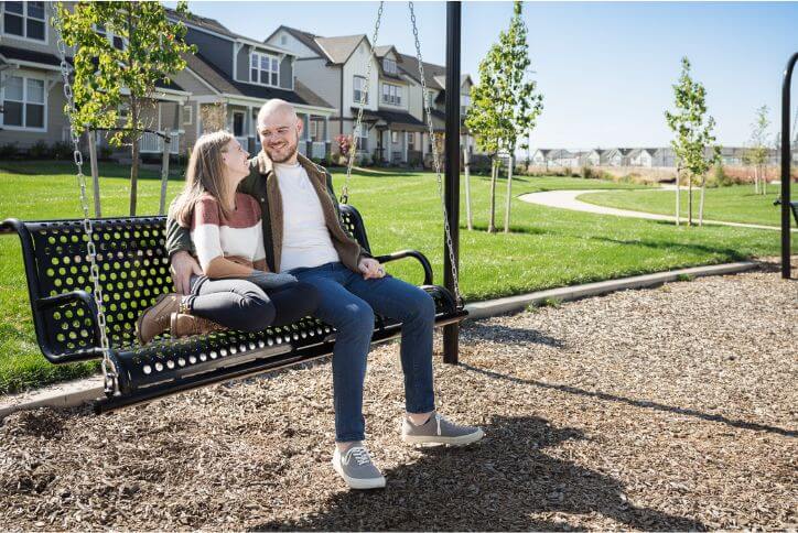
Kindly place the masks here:
<instances>
[{"instance_id":1,"label":"tall staked young tree just right of the black swing post","mask_svg":"<svg viewBox=\"0 0 798 533\"><path fill-rule=\"evenodd\" d=\"M509 154L505 206L505 232L509 232L515 152L518 148L528 148L535 121L543 109L543 96L536 93L537 83L528 78L531 61L521 10L522 3L517 0L509 28L499 33L498 43L490 47L479 63L479 85L472 88L473 106L466 117L466 126L475 132L477 139L483 134L490 138L484 140L482 146L492 154L493 162L489 232L496 230L496 155L499 152ZM486 145L490 150L486 150Z\"/></svg>"}]
</instances>

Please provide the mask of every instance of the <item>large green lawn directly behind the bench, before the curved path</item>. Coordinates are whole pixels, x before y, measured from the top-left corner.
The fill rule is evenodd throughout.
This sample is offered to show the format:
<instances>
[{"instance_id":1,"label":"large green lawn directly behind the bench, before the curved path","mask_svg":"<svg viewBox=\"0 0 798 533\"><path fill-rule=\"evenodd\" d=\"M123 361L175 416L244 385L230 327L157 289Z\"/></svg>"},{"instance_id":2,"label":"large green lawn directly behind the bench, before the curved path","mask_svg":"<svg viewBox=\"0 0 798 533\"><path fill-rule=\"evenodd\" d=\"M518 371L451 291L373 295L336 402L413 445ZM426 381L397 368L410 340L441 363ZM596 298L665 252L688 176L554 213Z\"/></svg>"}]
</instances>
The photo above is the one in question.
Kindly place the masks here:
<instances>
[{"instance_id":1,"label":"large green lawn directly behind the bench, before the curved path","mask_svg":"<svg viewBox=\"0 0 798 533\"><path fill-rule=\"evenodd\" d=\"M67 163L0 164L0 218L79 218L78 191L72 172ZM128 205L127 168L103 165L100 174L109 176L101 180L104 215L123 215ZM157 175L142 173L140 215L158 209ZM335 173L336 188L342 183L343 175ZM180 181L170 182L170 197L180 187ZM500 182L496 218L499 227L504 220L505 187ZM513 192L517 196L563 188L629 186L580 178L521 177L514 181ZM518 199L513 202L513 232L488 235L484 231L488 192L488 178L472 178L475 231L464 229L462 208L461 283L471 301L778 252L775 231L675 228L657 221L535 206ZM434 175L362 172L353 176L351 202L365 218L375 253L421 250L430 258L436 280L442 280L443 229ZM411 282L422 279L421 269L410 260L391 263L388 270ZM13 235L0 236L0 393L84 376L96 368L93 363L52 366L39 352L19 239Z\"/></svg>"}]
</instances>

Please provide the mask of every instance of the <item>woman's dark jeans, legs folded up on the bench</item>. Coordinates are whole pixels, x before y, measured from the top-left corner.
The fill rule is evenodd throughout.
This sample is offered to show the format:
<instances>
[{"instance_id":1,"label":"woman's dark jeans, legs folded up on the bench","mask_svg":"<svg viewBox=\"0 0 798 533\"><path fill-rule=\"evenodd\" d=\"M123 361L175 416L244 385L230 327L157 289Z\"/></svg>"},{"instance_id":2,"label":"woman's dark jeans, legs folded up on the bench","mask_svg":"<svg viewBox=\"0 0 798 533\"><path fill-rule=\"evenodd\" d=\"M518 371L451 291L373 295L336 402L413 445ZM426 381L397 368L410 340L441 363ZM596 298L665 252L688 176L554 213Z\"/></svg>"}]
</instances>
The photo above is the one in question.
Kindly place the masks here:
<instances>
[{"instance_id":1,"label":"woman's dark jeans, legs folded up on the bench","mask_svg":"<svg viewBox=\"0 0 798 533\"><path fill-rule=\"evenodd\" d=\"M192 315L239 331L262 331L314 314L319 291L295 280L277 284L257 276L211 280L192 275L186 303Z\"/></svg>"}]
</instances>

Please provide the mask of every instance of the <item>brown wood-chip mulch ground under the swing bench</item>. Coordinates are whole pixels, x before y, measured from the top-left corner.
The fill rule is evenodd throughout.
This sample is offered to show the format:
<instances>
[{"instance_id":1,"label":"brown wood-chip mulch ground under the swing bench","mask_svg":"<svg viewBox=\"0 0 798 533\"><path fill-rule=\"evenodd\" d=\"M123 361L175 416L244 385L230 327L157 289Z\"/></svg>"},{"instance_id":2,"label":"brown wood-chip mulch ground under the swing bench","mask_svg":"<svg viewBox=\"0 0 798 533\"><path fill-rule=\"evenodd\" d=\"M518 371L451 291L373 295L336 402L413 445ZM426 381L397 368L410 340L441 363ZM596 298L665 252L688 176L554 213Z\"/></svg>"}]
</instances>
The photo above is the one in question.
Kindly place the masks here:
<instances>
[{"instance_id":1,"label":"brown wood-chip mulch ground under the swing bench","mask_svg":"<svg viewBox=\"0 0 798 533\"><path fill-rule=\"evenodd\" d=\"M0 530L707 530L798 522L798 282L775 268L468 324L435 360L466 448L399 439L398 345L369 359L385 490L330 465L328 362L109 416L0 426Z\"/></svg>"}]
</instances>

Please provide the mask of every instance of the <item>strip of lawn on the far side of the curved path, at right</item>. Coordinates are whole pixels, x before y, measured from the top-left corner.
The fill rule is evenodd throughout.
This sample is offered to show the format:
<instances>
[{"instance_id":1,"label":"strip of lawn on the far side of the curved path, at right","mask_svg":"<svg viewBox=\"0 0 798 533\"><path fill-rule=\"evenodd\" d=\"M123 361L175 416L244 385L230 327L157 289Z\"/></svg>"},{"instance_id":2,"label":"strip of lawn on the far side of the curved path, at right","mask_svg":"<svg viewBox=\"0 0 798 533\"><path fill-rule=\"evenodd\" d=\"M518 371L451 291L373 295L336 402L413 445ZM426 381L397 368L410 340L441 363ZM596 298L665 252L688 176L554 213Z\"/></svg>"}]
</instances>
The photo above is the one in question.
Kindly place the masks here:
<instances>
[{"instance_id":1,"label":"strip of lawn on the far side of the curved path, at right","mask_svg":"<svg viewBox=\"0 0 798 533\"><path fill-rule=\"evenodd\" d=\"M770 194L754 194L753 185L733 185L730 187L708 188L704 199L704 219L729 222L762 224L779 226L781 211L773 205L778 196L778 187L770 185ZM700 192L693 191L693 219L698 219ZM666 191L606 192L583 194L579 199L600 206L630 209L635 211L673 215L676 193ZM683 217L688 213L688 193L681 193L680 210Z\"/></svg>"}]
</instances>

